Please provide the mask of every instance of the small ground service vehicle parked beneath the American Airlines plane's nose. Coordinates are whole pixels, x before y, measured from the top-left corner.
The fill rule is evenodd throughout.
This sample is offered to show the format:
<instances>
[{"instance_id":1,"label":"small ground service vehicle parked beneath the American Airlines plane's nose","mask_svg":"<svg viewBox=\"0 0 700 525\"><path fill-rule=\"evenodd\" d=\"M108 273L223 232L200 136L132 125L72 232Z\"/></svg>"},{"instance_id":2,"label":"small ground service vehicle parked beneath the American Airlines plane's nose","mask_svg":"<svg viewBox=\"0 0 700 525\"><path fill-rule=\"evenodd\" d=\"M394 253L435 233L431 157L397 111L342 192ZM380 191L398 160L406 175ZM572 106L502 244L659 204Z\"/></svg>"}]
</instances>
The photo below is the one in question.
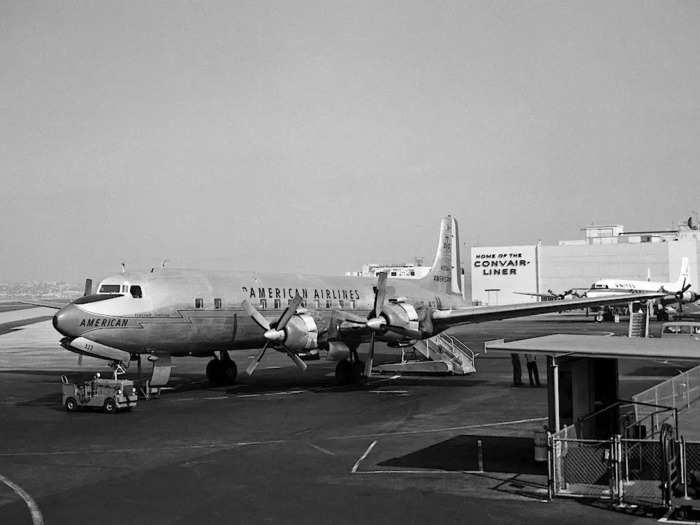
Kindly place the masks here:
<instances>
[{"instance_id":1,"label":"small ground service vehicle parked beneath the American Airlines plane's nose","mask_svg":"<svg viewBox=\"0 0 700 525\"><path fill-rule=\"evenodd\" d=\"M136 406L136 388L128 379L106 379L95 377L89 381L71 383L61 377L62 403L68 412L79 408L101 408L108 414L119 410L130 410Z\"/></svg>"}]
</instances>

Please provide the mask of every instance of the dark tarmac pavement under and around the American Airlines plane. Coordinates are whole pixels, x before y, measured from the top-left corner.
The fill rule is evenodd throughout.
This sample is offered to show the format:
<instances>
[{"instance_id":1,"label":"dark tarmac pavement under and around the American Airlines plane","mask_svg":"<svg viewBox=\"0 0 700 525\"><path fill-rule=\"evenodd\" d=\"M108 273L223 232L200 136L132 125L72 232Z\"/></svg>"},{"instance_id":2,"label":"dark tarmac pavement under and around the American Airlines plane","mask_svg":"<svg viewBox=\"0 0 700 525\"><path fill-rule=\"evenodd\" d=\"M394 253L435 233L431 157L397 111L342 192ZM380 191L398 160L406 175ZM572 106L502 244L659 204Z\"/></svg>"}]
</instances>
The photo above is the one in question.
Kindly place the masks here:
<instances>
[{"instance_id":1,"label":"dark tarmac pavement under and around the American Airlines plane","mask_svg":"<svg viewBox=\"0 0 700 525\"><path fill-rule=\"evenodd\" d=\"M452 333L477 347L555 329L611 328L555 317ZM503 356L480 356L472 376L379 376L352 388L335 386L332 362L311 362L302 375L275 353L253 378L210 388L206 359L182 358L160 399L117 415L68 414L59 376L104 366L81 369L58 338L47 321L0 336L3 525L33 523L12 486L45 523L650 522L543 501L546 472L531 438L546 389L511 387ZM239 370L254 354L233 354ZM379 362L398 356L378 346ZM640 366L625 370L625 384L645 384L640 370L669 373Z\"/></svg>"}]
</instances>

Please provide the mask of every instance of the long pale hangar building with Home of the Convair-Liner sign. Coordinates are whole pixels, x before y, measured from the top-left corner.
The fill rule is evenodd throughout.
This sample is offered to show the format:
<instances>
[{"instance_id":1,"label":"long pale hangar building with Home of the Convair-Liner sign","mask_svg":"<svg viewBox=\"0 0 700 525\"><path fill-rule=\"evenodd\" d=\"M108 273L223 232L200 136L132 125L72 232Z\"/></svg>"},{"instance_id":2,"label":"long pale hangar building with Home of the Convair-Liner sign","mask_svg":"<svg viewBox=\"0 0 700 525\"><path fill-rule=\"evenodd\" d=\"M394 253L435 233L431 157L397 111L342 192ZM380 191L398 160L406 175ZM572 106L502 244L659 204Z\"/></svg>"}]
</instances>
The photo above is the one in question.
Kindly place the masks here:
<instances>
[{"instance_id":1,"label":"long pale hangar building with Home of the Convair-Liner sign","mask_svg":"<svg viewBox=\"0 0 700 525\"><path fill-rule=\"evenodd\" d=\"M584 239L470 248L465 295L475 305L537 301L515 292L588 289L599 279L675 281L688 258L698 290L700 228L688 219L671 230L625 232L620 224L588 226Z\"/></svg>"}]
</instances>

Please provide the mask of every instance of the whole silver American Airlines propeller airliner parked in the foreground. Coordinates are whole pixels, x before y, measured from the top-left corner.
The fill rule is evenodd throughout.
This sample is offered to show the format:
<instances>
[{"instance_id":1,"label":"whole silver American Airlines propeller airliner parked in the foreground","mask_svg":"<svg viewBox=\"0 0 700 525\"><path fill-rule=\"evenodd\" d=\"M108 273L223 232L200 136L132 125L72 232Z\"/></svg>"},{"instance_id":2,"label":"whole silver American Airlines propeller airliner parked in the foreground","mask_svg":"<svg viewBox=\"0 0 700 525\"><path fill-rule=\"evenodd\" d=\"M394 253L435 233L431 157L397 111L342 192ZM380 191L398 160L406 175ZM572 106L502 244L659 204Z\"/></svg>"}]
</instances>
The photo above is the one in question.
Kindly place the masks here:
<instances>
[{"instance_id":1,"label":"whole silver American Airlines propeller airliner parked in the foreground","mask_svg":"<svg viewBox=\"0 0 700 525\"><path fill-rule=\"evenodd\" d=\"M60 308L53 325L65 349L112 364L126 365L144 354L211 358L206 375L212 383L236 379L230 351L261 349L248 367L252 374L269 348L287 354L300 369L307 365L299 354L321 348L338 361L337 381L348 384L371 374L375 340L406 346L459 324L661 295L471 307L462 300L460 272L457 221L447 216L432 268L422 279L172 268L123 272L103 279L94 294L87 285L85 296ZM366 362L358 354L364 343Z\"/></svg>"}]
</instances>

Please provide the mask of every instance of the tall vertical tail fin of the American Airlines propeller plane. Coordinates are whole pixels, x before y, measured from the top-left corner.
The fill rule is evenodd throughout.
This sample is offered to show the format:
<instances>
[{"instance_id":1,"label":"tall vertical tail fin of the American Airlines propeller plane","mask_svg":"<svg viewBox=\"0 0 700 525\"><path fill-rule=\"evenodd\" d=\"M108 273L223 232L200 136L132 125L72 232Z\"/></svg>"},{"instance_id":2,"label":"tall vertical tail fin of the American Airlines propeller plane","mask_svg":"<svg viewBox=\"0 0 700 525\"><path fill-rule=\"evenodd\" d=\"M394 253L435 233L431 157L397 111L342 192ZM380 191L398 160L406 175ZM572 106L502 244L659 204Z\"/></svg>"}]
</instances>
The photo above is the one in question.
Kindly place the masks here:
<instances>
[{"instance_id":1,"label":"tall vertical tail fin of the American Airlines propeller plane","mask_svg":"<svg viewBox=\"0 0 700 525\"><path fill-rule=\"evenodd\" d=\"M461 296L461 273L457 220L448 215L440 223L440 239L433 266L420 283L437 293Z\"/></svg>"}]
</instances>

